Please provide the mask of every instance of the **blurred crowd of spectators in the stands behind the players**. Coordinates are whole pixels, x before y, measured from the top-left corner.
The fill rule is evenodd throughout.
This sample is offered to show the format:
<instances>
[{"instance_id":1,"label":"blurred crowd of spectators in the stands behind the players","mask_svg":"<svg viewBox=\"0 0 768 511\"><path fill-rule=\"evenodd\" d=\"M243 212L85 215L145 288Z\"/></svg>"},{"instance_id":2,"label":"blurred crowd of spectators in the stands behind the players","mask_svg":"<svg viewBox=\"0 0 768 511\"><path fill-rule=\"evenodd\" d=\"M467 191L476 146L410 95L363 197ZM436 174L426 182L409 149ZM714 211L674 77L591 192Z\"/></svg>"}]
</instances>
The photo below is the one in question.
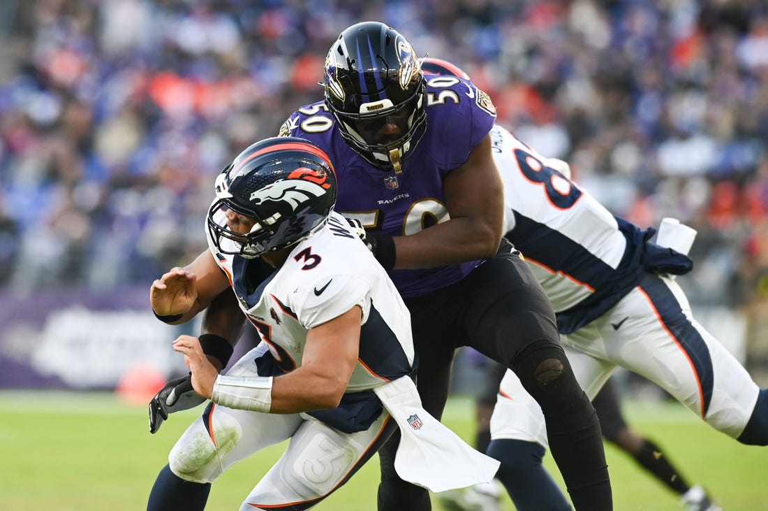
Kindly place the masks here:
<instances>
[{"instance_id":1,"label":"blurred crowd of spectators in the stands behind the players","mask_svg":"<svg viewBox=\"0 0 768 511\"><path fill-rule=\"evenodd\" d=\"M0 287L189 261L216 174L322 98L326 51L369 19L464 68L614 214L696 228L694 305L768 343L764 0L3 0Z\"/></svg>"}]
</instances>

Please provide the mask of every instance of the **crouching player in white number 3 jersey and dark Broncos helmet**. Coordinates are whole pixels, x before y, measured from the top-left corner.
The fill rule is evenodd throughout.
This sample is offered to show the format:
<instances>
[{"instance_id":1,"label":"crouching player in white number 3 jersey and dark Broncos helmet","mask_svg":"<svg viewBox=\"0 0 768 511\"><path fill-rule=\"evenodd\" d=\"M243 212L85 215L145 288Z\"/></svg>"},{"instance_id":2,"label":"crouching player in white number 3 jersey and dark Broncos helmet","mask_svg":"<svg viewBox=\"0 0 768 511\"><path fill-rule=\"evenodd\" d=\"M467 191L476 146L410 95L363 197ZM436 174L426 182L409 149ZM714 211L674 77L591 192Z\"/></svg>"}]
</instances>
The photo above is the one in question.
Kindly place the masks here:
<instances>
[{"instance_id":1,"label":"crouching player in white number 3 jersey and dark Broncos helmet","mask_svg":"<svg viewBox=\"0 0 768 511\"><path fill-rule=\"evenodd\" d=\"M253 144L217 178L210 250L152 284L155 314L172 323L231 287L261 343L220 374L231 355L227 343L206 335L174 341L194 390L211 403L171 450L149 511L204 509L210 483L224 470L288 439L240 509L309 509L398 427L403 479L441 491L494 476L497 461L422 408L411 378L409 311L333 211L336 190L333 165L309 141ZM164 418L157 413L153 430Z\"/></svg>"}]
</instances>

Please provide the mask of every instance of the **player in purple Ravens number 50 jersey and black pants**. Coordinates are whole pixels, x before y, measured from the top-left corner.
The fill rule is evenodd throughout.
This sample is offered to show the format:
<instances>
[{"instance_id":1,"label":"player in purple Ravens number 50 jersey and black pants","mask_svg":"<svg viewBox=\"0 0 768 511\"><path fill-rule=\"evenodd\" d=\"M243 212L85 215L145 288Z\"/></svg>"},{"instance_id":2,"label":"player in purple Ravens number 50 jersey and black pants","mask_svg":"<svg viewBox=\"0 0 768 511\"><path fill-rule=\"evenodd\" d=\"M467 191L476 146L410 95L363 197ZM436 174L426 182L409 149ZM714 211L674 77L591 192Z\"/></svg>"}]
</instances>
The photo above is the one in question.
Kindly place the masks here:
<instances>
[{"instance_id":1,"label":"player in purple Ravens number 50 jersey and black pants","mask_svg":"<svg viewBox=\"0 0 768 511\"><path fill-rule=\"evenodd\" d=\"M425 410L442 415L454 352L474 347L513 370L543 410L576 509L613 509L598 418L554 311L502 241L491 99L463 78L426 79L406 38L379 22L346 28L324 71L323 100L291 114L280 135L312 141L335 163L337 210L364 227L411 314ZM399 441L396 432L379 451L379 510L431 509L429 492L398 476Z\"/></svg>"}]
</instances>

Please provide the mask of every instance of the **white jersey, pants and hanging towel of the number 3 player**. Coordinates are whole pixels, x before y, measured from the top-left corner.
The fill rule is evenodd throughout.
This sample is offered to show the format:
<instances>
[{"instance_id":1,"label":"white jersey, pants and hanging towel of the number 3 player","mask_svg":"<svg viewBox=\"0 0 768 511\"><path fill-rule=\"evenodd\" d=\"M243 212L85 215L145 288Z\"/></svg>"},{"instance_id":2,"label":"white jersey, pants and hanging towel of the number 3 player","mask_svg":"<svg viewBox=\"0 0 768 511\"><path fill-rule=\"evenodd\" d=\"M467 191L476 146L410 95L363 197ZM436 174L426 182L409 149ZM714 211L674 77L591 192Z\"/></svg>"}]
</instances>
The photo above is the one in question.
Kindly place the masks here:
<instances>
[{"instance_id":1,"label":"white jersey, pants and hanging towel of the number 3 player","mask_svg":"<svg viewBox=\"0 0 768 511\"><path fill-rule=\"evenodd\" d=\"M226 221L223 211L214 218ZM211 483L237 460L290 438L242 509L309 509L343 485L398 426L395 468L403 479L444 491L493 478L498 461L473 450L422 407L410 377L409 311L343 216L333 213L271 274L260 260L221 254L210 233L208 241L262 340L227 375L279 378L300 367L307 332L356 306L362 309L358 359L341 403L329 410L280 414L209 406L171 450L170 470L177 476ZM237 249L233 241L222 243L230 244L227 251Z\"/></svg>"}]
</instances>

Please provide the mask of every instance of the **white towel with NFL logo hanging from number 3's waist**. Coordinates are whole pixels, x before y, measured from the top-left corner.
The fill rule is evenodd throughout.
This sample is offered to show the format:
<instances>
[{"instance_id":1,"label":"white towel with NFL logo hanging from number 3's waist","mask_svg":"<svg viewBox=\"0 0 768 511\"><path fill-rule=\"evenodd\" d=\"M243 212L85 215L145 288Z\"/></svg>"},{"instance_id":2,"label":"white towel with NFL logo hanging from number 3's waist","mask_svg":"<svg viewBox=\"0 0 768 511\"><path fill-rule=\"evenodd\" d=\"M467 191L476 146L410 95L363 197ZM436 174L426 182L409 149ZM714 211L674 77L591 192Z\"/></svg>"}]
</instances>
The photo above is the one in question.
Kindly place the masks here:
<instances>
[{"instance_id":1,"label":"white towel with NFL logo hanging from number 3's waist","mask_svg":"<svg viewBox=\"0 0 768 511\"><path fill-rule=\"evenodd\" d=\"M400 426L395 470L402 479L437 493L488 483L494 478L498 461L472 449L424 410L409 377L373 391Z\"/></svg>"}]
</instances>

